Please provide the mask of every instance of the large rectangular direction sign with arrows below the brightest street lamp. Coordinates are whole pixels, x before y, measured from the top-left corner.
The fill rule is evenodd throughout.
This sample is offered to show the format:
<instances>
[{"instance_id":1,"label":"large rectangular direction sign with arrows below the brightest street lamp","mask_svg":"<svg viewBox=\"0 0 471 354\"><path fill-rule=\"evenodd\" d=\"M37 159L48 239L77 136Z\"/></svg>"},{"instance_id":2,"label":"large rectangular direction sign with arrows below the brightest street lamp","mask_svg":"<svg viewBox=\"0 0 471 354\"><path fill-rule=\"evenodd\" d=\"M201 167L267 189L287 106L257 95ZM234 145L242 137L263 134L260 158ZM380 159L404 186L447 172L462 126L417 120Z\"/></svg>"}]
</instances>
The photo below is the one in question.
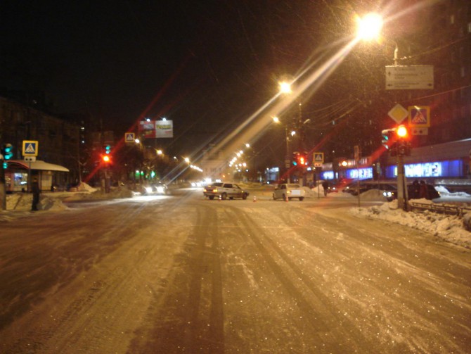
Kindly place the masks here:
<instances>
[{"instance_id":1,"label":"large rectangular direction sign with arrows below the brightest street lamp","mask_svg":"<svg viewBox=\"0 0 471 354\"><path fill-rule=\"evenodd\" d=\"M386 89L433 89L433 65L387 65Z\"/></svg>"}]
</instances>

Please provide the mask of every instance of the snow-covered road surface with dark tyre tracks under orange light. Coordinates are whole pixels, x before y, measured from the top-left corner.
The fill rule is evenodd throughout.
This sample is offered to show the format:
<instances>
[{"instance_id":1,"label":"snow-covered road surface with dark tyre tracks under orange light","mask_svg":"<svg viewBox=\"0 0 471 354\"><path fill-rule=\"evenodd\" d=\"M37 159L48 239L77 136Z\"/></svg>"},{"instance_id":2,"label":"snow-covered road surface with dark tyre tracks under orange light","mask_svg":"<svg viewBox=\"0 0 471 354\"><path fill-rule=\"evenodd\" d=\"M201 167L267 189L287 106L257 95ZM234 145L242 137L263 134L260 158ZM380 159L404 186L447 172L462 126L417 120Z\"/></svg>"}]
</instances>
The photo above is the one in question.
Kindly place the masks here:
<instances>
[{"instance_id":1,"label":"snow-covered road surface with dark tyre tracks under orange light","mask_svg":"<svg viewBox=\"0 0 471 354\"><path fill-rule=\"evenodd\" d=\"M4 216L0 353L469 353L466 234L253 196Z\"/></svg>"}]
</instances>

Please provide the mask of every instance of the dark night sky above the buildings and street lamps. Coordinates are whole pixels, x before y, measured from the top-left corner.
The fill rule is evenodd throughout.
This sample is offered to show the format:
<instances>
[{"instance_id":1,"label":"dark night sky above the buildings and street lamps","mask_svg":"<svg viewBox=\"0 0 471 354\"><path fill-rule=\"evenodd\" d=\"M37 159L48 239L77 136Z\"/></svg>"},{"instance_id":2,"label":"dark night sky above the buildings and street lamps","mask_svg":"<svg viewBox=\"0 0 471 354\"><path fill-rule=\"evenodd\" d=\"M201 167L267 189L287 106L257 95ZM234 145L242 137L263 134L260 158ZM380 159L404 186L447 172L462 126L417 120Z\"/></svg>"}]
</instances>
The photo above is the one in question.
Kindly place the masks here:
<instances>
[{"instance_id":1,"label":"dark night sky above the buildings and street lamps","mask_svg":"<svg viewBox=\"0 0 471 354\"><path fill-rule=\"evenodd\" d=\"M44 91L57 113L91 114L118 135L140 118L166 117L174 121L167 148L195 153L269 101L278 80L347 41L354 13L379 4L4 1L0 86ZM368 61L356 65L371 70ZM305 115L344 96L345 70L307 95Z\"/></svg>"}]
</instances>

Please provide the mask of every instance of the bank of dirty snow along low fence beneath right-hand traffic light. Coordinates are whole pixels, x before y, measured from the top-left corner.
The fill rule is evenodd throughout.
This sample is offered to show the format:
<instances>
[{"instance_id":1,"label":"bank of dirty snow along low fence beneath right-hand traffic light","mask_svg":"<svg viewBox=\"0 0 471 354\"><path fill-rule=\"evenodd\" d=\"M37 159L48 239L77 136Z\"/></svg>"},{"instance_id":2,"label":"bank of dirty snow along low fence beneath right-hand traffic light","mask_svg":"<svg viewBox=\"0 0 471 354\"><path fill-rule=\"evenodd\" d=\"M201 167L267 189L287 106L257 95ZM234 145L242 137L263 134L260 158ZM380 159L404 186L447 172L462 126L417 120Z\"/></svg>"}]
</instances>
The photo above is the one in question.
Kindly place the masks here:
<instances>
[{"instance_id":1,"label":"bank of dirty snow along low fence beneath right-hand traffic light","mask_svg":"<svg viewBox=\"0 0 471 354\"><path fill-rule=\"evenodd\" d=\"M418 203L432 203L432 201L427 201L427 199L415 201ZM458 216L434 213L429 210L406 212L397 207L397 201L370 208L351 208L350 213L362 217L387 220L413 229L420 229L430 232L439 239L451 244L471 248L471 233L467 231L471 223L471 213L467 213L463 218L460 218Z\"/></svg>"}]
</instances>

